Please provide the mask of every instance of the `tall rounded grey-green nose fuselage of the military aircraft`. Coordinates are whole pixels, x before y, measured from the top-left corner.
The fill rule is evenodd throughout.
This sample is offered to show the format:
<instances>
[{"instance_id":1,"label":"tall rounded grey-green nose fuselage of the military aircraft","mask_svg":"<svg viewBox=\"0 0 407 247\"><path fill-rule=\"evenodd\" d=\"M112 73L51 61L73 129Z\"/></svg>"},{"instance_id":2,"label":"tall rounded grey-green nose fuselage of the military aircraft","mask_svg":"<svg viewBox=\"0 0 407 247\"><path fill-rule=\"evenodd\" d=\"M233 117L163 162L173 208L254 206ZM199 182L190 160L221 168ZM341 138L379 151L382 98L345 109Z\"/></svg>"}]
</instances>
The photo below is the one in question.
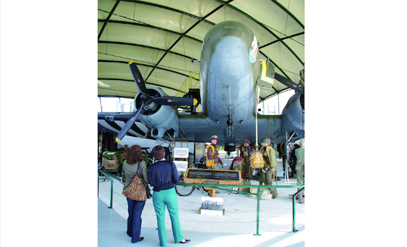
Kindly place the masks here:
<instances>
[{"instance_id":1,"label":"tall rounded grey-green nose fuselage of the military aircraft","mask_svg":"<svg viewBox=\"0 0 407 247\"><path fill-rule=\"evenodd\" d=\"M251 55L253 41L255 34L238 21L218 23L206 34L201 50L201 102L212 121L230 126L253 116L259 74L257 50L256 59Z\"/></svg>"}]
</instances>

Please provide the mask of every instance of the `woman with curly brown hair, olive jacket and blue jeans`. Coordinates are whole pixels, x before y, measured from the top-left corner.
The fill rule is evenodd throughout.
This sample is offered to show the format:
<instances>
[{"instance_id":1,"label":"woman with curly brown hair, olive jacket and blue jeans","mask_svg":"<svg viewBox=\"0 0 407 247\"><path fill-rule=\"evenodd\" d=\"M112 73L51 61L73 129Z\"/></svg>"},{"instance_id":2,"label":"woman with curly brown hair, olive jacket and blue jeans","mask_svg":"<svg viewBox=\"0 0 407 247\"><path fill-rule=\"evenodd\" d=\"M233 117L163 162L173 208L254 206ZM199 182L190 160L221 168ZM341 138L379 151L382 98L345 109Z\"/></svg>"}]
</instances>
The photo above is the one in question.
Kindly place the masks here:
<instances>
[{"instance_id":1,"label":"woman with curly brown hair, olive jacket and blue jeans","mask_svg":"<svg viewBox=\"0 0 407 247\"><path fill-rule=\"evenodd\" d=\"M121 170L121 182L124 184L123 190L129 186L132 179L137 175L137 170L141 165L143 180L148 184L147 164L143 161L143 155L139 145L134 145L128 148L126 152L126 160L123 161L123 169ZM141 232L141 212L143 211L146 201L134 201L127 198L128 203L128 219L127 219L127 235L132 238L132 243L141 241L144 238L140 237Z\"/></svg>"}]
</instances>

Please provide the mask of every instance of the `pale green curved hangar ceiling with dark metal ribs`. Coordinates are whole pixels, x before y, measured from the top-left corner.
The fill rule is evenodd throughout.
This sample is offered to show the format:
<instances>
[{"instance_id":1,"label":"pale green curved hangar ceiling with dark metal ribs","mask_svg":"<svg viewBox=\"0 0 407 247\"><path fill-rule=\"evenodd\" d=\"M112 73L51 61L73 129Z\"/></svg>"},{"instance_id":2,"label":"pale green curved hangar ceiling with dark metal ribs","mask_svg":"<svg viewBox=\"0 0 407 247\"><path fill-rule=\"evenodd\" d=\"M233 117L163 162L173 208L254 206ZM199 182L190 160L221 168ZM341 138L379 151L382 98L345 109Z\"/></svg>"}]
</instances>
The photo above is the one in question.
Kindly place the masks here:
<instances>
[{"instance_id":1,"label":"pale green curved hangar ceiling with dark metal ribs","mask_svg":"<svg viewBox=\"0 0 407 247\"><path fill-rule=\"evenodd\" d=\"M304 0L98 1L98 96L135 97L128 62L146 86L175 96L190 70L199 70L201 46L215 24L245 23L259 42L259 59L299 83L304 69ZM261 101L290 90L279 81L261 88Z\"/></svg>"}]
</instances>

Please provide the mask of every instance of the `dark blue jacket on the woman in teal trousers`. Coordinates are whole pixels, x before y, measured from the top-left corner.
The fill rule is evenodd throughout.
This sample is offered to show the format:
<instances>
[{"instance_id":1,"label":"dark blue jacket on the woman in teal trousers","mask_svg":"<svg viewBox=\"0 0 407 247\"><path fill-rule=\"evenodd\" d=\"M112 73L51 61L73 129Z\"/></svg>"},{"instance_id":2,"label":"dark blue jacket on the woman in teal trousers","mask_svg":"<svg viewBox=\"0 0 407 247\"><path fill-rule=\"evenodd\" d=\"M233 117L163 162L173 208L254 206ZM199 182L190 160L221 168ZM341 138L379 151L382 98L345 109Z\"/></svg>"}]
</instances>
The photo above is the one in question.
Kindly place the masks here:
<instances>
[{"instance_id":1,"label":"dark blue jacket on the woman in teal trousers","mask_svg":"<svg viewBox=\"0 0 407 247\"><path fill-rule=\"evenodd\" d=\"M157 161L148 168L148 181L154 191L174 188L179 181L177 167L172 161Z\"/></svg>"}]
</instances>

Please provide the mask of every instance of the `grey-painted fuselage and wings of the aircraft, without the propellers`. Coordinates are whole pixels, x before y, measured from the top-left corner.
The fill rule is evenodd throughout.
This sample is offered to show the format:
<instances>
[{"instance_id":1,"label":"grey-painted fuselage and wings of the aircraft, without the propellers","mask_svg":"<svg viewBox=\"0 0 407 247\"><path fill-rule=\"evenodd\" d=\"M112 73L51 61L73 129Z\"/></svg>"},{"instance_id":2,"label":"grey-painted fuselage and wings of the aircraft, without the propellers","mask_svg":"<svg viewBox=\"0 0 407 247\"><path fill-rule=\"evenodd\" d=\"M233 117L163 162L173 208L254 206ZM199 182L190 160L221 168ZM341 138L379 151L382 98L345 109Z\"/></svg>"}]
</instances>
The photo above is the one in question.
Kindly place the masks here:
<instances>
[{"instance_id":1,"label":"grey-painted fuselage and wings of the aircraft, without the propellers","mask_svg":"<svg viewBox=\"0 0 407 247\"><path fill-rule=\"evenodd\" d=\"M217 135L218 145L235 147L244 139L255 143L255 83L259 70L257 40L252 30L238 21L218 23L206 34L201 50L202 112L197 115L179 114L174 106L150 106L155 109L153 113L140 114L139 121L152 130L151 137L156 139L171 139L167 133L173 130L175 141L208 142L212 135ZM149 89L156 90L161 97L166 96L160 89ZM136 109L141 105L139 95L135 97ZM281 143L286 139L286 131L289 135L297 132L293 140L304 137L304 110L299 103L300 95L297 92L290 98L281 116L275 117L276 122L274 116L257 116L258 140L270 133L270 139ZM130 118L131 115L99 113L98 119L101 123ZM115 128L110 129L119 132Z\"/></svg>"}]
</instances>

